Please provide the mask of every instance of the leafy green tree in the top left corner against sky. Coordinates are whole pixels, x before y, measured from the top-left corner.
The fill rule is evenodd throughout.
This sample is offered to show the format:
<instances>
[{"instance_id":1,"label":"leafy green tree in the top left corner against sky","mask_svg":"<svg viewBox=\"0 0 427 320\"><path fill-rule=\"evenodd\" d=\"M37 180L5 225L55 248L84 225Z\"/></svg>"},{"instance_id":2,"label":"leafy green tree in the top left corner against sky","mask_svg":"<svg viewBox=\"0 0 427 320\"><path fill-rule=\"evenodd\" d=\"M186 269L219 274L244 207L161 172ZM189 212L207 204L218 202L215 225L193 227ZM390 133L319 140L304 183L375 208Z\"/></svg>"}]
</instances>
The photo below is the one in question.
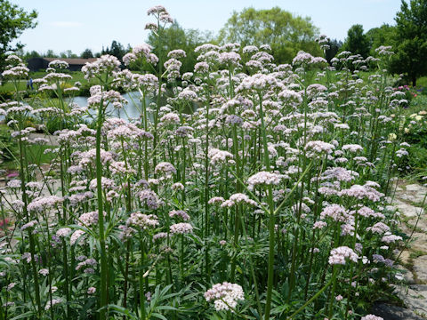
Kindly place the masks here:
<instances>
[{"instance_id":1,"label":"leafy green tree in the top left corner against sky","mask_svg":"<svg viewBox=\"0 0 427 320\"><path fill-rule=\"evenodd\" d=\"M5 57L8 52L14 52L22 48L23 44L15 44L25 29L36 27L37 12L25 12L17 4L11 4L8 0L0 0L0 71L4 69Z\"/></svg>"}]
</instances>

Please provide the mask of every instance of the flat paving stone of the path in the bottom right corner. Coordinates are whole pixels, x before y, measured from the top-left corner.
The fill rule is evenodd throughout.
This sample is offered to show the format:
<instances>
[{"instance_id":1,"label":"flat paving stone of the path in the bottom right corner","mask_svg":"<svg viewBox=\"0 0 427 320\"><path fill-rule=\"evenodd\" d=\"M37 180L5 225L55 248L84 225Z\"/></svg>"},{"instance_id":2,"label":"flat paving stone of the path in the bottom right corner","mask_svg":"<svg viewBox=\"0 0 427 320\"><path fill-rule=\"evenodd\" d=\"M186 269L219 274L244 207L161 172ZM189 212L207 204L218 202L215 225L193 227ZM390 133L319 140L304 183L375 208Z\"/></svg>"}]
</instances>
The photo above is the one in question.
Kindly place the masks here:
<instances>
[{"instance_id":1,"label":"flat paving stone of the path in the bottom right corner","mask_svg":"<svg viewBox=\"0 0 427 320\"><path fill-rule=\"evenodd\" d=\"M413 284L407 288L396 287L398 297L403 300L405 306L419 315L427 315L427 285Z\"/></svg>"}]
</instances>

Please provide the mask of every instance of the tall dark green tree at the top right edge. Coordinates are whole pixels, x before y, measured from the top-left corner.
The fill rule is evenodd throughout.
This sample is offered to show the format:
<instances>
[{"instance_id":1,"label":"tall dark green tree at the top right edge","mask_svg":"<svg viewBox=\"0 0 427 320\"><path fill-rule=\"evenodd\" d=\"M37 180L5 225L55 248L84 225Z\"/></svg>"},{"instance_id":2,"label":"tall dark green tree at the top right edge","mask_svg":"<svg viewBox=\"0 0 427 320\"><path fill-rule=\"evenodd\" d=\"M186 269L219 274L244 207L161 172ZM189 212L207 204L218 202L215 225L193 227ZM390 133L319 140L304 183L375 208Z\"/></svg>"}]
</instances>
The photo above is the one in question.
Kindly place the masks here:
<instances>
[{"instance_id":1,"label":"tall dark green tree at the top right edge","mask_svg":"<svg viewBox=\"0 0 427 320\"><path fill-rule=\"evenodd\" d=\"M416 85L416 79L427 75L427 0L402 0L396 14L396 55L391 71L404 74Z\"/></svg>"}]
</instances>

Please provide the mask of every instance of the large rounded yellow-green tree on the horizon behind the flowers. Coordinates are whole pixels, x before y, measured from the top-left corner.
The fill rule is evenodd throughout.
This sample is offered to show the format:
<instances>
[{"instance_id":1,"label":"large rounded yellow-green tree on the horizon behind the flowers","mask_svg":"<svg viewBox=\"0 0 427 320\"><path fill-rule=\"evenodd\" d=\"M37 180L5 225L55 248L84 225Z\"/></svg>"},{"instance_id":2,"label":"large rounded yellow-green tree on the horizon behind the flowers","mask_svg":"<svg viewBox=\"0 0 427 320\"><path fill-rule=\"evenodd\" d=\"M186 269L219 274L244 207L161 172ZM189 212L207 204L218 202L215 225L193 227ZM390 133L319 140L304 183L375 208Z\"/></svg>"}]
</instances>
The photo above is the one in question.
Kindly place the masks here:
<instances>
[{"instance_id":1,"label":"large rounded yellow-green tree on the horizon behind the flowers","mask_svg":"<svg viewBox=\"0 0 427 320\"><path fill-rule=\"evenodd\" d=\"M301 50L320 55L315 42L317 36L318 28L310 18L295 17L279 7L267 10L246 8L242 12L233 12L221 29L219 40L221 43L238 42L242 46L270 44L276 63L286 63Z\"/></svg>"}]
</instances>

